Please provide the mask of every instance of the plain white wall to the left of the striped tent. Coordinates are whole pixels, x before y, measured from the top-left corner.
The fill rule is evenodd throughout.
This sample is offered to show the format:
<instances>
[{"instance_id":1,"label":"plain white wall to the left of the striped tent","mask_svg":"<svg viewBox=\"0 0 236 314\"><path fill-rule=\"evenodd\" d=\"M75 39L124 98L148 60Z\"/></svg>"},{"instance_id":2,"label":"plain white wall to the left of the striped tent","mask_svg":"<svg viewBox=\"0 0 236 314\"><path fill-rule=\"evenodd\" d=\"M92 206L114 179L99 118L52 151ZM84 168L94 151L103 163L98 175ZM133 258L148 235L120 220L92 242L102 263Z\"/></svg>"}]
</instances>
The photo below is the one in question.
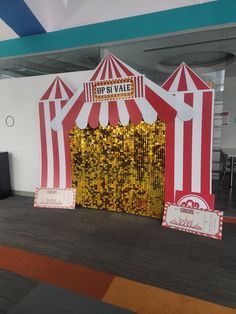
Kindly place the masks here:
<instances>
[{"instance_id":1,"label":"plain white wall to the left of the striped tent","mask_svg":"<svg viewBox=\"0 0 236 314\"><path fill-rule=\"evenodd\" d=\"M88 81L92 72L59 74L73 91ZM10 154L12 189L34 192L41 170L38 102L57 75L0 80L0 151ZM13 127L5 119L12 115Z\"/></svg>"}]
</instances>

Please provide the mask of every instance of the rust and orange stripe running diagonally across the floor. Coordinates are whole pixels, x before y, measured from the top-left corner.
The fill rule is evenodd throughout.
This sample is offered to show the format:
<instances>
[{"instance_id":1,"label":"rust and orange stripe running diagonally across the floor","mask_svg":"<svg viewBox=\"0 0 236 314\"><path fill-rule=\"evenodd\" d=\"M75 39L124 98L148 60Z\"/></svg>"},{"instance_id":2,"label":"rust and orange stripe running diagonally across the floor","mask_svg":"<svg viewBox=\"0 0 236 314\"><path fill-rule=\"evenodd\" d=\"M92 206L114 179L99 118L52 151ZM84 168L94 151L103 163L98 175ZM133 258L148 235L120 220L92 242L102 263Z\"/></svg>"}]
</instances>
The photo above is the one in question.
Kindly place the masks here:
<instances>
[{"instance_id":1,"label":"rust and orange stripe running diagonally across the floor","mask_svg":"<svg viewBox=\"0 0 236 314\"><path fill-rule=\"evenodd\" d=\"M24 250L1 246L0 256L2 257L0 260L1 269L14 272L26 278L31 278L34 282L43 282L66 288L69 291L78 292L79 295L92 297L101 302L128 309L136 313L236 313L236 310L229 307L202 301L197 298L188 297L183 294L142 284L133 280L127 280L104 272L98 272L77 264L66 263L51 259L47 256L32 254ZM28 299L26 295L25 299L22 301L23 305L21 305L21 303L17 305L13 313L22 313L20 312L22 308L27 309L24 314L38 313L39 304L41 304L42 309L46 310L43 308L45 302L45 286L40 286L40 289L41 293L37 293L37 299L35 297L32 299L32 295L30 295ZM46 290L47 289L48 286L46 286ZM54 289L51 290L51 300L57 303L54 295L55 291ZM63 291L64 290L60 290L62 298L63 296L67 296L66 290ZM65 300L67 299L65 298ZM73 305L74 310L77 307L77 313L80 313L80 302L78 301ZM87 299L86 304L89 302L89 299ZM85 300L83 300L83 306L85 306L84 304ZM46 305L48 306L48 303L46 303ZM57 308L57 304L55 306L50 305L50 307L51 312L48 313L54 313L54 308ZM101 312L97 310L97 313L103 313L102 311L105 313L105 309L103 308L101 308ZM109 308L109 311L111 311L110 313L116 313L115 308ZM63 313L68 314L68 312L69 311L66 311L65 308L65 312ZM117 313L119 313L118 310ZM88 314L91 313L88 312Z\"/></svg>"}]
</instances>

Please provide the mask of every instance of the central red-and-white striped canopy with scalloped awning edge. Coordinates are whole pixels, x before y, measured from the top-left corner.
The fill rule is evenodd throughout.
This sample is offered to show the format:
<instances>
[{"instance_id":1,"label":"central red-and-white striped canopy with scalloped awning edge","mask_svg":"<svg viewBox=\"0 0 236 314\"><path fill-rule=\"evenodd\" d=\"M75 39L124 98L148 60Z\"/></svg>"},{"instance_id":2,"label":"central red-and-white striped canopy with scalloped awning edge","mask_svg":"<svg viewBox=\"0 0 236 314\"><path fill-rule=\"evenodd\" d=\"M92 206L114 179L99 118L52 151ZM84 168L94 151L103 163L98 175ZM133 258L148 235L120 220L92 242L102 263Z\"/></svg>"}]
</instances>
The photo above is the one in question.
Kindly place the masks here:
<instances>
[{"instance_id":1,"label":"central red-and-white striped canopy with scalloped awning edge","mask_svg":"<svg viewBox=\"0 0 236 314\"><path fill-rule=\"evenodd\" d=\"M135 81L134 97L94 101L93 84L131 78ZM168 122L174 120L176 114L180 120L189 120L192 118L192 108L112 54L108 54L95 69L90 82L84 83L78 89L52 125L57 130L62 124L70 129L75 121L81 129L88 125L96 128L99 124L103 127L108 124L116 126L119 123L125 126L130 122L137 125L142 120L153 123L157 116Z\"/></svg>"}]
</instances>

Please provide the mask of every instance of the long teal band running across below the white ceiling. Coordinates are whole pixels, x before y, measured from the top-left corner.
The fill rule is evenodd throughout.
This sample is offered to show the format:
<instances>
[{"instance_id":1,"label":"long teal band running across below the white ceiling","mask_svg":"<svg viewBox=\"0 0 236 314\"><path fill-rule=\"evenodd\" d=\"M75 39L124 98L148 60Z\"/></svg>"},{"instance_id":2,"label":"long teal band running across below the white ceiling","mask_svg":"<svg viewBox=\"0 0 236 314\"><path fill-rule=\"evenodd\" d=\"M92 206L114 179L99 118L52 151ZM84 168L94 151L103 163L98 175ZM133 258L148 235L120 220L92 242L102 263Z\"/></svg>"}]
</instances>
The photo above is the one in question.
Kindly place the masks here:
<instances>
[{"instance_id":1,"label":"long teal band running across below the white ceiling","mask_svg":"<svg viewBox=\"0 0 236 314\"><path fill-rule=\"evenodd\" d=\"M236 23L236 1L218 0L0 42L0 58L102 45Z\"/></svg>"}]
</instances>

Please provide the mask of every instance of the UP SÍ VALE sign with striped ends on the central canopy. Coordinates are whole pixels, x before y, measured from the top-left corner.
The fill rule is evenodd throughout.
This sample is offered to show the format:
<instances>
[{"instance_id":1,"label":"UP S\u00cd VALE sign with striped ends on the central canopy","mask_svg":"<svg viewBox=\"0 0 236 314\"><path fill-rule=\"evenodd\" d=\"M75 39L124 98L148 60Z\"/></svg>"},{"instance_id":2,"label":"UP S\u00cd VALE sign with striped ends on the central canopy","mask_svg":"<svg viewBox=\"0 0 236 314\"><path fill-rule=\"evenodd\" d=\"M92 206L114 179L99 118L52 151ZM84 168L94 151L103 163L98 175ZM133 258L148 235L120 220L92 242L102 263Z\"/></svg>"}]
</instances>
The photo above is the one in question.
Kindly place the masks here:
<instances>
[{"instance_id":1,"label":"UP S\u00cd VALE sign with striped ends on the central canopy","mask_svg":"<svg viewBox=\"0 0 236 314\"><path fill-rule=\"evenodd\" d=\"M84 84L87 102L144 97L144 77L129 76Z\"/></svg>"}]
</instances>

